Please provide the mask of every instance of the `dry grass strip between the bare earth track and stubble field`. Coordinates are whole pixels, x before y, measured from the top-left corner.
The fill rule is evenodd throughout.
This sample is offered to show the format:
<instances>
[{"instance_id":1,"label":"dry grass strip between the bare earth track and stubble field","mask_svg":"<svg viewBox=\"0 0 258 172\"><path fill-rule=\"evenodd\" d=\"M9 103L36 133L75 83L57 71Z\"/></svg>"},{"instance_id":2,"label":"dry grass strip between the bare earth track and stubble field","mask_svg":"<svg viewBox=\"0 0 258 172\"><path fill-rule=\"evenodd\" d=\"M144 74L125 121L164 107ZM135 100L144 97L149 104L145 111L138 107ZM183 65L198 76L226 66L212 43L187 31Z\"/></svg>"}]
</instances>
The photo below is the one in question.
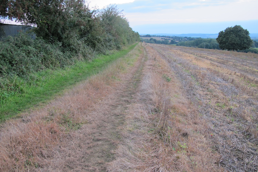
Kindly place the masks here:
<instances>
[{"instance_id":1,"label":"dry grass strip between the bare earth track and stubble field","mask_svg":"<svg viewBox=\"0 0 258 172\"><path fill-rule=\"evenodd\" d=\"M109 170L219 171L220 155L210 141L208 124L168 64L150 47L146 50L148 61L137 103L128 109L121 133L124 142Z\"/></svg>"}]
</instances>

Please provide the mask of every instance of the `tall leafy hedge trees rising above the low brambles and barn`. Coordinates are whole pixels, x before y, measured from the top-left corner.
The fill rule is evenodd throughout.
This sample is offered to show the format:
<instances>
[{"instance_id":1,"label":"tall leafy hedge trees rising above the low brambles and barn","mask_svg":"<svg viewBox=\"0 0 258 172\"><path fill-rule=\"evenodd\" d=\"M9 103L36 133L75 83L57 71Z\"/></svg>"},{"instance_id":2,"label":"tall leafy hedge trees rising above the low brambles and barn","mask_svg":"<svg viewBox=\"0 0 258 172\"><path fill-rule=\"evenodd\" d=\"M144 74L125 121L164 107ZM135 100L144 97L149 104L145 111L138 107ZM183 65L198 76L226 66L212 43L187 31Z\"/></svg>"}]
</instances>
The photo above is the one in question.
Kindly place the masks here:
<instances>
[{"instance_id":1,"label":"tall leafy hedge trees rising above the low brambles and barn","mask_svg":"<svg viewBox=\"0 0 258 172\"><path fill-rule=\"evenodd\" d=\"M139 41L140 36L117 6L90 10L85 0L2 0L0 19L36 26L37 38L59 44L63 51L105 53ZM84 51L85 50L85 51Z\"/></svg>"}]
</instances>

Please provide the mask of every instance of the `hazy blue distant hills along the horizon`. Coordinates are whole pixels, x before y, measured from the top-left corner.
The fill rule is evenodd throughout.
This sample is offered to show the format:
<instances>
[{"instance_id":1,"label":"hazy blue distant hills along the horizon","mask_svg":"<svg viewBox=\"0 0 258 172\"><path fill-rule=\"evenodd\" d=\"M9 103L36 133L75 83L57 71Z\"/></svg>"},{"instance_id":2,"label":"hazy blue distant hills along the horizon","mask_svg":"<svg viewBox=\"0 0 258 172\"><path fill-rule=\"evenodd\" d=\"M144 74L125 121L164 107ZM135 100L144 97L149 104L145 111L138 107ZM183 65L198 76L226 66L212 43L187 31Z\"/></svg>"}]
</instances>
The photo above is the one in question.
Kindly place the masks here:
<instances>
[{"instance_id":1,"label":"hazy blue distant hills along the horizon","mask_svg":"<svg viewBox=\"0 0 258 172\"><path fill-rule=\"evenodd\" d=\"M169 33L156 33L149 35L161 35L161 36L182 36L182 37L192 37L192 38L217 38L219 33L216 34L204 34L204 33L188 33L188 34L169 34ZM147 35L145 33L141 33L140 35ZM258 33L250 33L250 37L252 39L258 38Z\"/></svg>"}]
</instances>

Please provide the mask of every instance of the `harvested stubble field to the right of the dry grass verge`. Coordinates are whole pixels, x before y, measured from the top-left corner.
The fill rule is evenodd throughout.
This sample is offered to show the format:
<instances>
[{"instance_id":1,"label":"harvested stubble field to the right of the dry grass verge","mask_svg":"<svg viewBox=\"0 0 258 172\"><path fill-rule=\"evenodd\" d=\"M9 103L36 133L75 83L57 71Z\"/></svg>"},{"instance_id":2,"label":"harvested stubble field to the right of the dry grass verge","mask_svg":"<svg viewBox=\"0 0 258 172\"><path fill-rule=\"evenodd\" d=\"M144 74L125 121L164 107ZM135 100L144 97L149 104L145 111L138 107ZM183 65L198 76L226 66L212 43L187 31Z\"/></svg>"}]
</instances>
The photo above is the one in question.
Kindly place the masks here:
<instances>
[{"instance_id":1,"label":"harvested stubble field to the right of the dry grass verge","mask_svg":"<svg viewBox=\"0 0 258 172\"><path fill-rule=\"evenodd\" d=\"M219 165L228 171L257 171L257 59L236 52L151 46L175 70L188 99L206 119L209 139L221 156Z\"/></svg>"}]
</instances>

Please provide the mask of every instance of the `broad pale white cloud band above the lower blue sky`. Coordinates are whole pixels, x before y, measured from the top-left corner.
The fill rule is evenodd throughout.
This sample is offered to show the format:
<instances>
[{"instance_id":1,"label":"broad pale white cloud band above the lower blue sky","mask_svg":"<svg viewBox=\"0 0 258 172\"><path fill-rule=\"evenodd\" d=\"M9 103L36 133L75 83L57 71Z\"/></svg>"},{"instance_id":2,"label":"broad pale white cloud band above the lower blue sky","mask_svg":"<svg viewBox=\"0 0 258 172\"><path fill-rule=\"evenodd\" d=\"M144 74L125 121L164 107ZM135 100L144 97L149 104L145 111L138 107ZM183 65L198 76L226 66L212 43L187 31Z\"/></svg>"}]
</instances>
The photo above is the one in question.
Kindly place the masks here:
<instances>
[{"instance_id":1,"label":"broad pale white cloud band above the lower blue sky","mask_svg":"<svg viewBox=\"0 0 258 172\"><path fill-rule=\"evenodd\" d=\"M257 20L258 1L248 3L237 0L221 5L197 6L195 8L163 9L152 12L126 13L131 27L144 24L201 23L239 20Z\"/></svg>"}]
</instances>

